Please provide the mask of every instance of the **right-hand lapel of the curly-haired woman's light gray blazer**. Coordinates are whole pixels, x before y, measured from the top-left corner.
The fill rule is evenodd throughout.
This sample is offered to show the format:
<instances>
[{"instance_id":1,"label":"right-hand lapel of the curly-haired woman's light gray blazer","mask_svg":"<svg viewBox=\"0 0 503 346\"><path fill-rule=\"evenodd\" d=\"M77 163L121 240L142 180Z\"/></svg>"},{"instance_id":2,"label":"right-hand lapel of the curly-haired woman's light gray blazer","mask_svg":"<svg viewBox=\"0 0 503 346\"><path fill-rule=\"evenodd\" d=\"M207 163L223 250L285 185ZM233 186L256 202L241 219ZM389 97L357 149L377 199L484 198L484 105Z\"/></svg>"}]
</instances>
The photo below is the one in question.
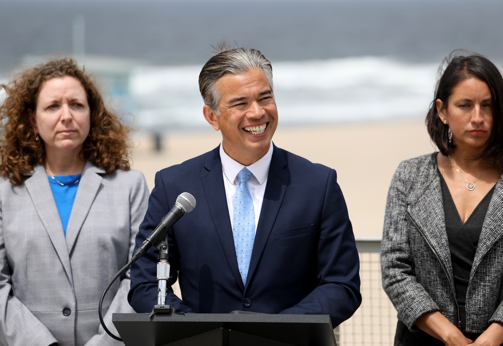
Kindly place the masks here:
<instances>
[{"instance_id":1,"label":"right-hand lapel of the curly-haired woman's light gray blazer","mask_svg":"<svg viewBox=\"0 0 503 346\"><path fill-rule=\"evenodd\" d=\"M66 246L68 248L68 253L72 251L80 228L86 220L101 186L103 178L100 174L105 174L103 168L97 167L89 161L86 162L86 166L82 171L82 177L78 183L77 194L75 195L75 201L71 208L70 219L66 226Z\"/></svg>"}]
</instances>

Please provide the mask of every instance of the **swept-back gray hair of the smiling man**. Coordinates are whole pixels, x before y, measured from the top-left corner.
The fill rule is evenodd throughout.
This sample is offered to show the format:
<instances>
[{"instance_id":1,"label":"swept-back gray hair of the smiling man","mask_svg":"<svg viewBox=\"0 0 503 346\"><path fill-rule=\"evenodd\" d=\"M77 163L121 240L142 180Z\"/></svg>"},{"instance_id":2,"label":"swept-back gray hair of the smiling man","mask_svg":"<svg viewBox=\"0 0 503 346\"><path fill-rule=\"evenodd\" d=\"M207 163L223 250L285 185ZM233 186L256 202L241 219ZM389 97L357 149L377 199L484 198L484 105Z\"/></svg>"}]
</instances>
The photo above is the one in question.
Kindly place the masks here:
<instances>
[{"instance_id":1,"label":"swept-back gray hair of the smiling man","mask_svg":"<svg viewBox=\"0 0 503 346\"><path fill-rule=\"evenodd\" d=\"M228 49L211 57L199 74L199 91L204 103L219 115L217 80L227 74L243 74L259 68L266 73L269 88L273 91L273 66L258 49Z\"/></svg>"}]
</instances>

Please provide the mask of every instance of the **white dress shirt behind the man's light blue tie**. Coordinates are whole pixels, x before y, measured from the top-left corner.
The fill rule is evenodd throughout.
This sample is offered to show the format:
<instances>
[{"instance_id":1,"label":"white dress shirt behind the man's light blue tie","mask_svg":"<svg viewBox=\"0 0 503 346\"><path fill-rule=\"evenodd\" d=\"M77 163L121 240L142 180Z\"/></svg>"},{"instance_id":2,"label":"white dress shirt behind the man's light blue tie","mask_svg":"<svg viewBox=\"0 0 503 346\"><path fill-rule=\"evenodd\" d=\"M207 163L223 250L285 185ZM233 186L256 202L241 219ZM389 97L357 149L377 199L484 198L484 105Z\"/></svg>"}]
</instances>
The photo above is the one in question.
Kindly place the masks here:
<instances>
[{"instance_id":1,"label":"white dress shirt behind the man's light blue tie","mask_svg":"<svg viewBox=\"0 0 503 346\"><path fill-rule=\"evenodd\" d=\"M244 167L253 174L253 177L248 179L248 191L253 200L255 210L255 232L259 225L260 211L262 209L262 201L264 200L264 192L266 191L267 176L269 174L269 166L273 157L273 142L269 146L267 153L262 156L257 162L244 166L236 160L232 159L223 150L220 143L220 160L222 161L223 185L225 187L225 197L227 197L227 207L229 208L230 225L232 226L232 218L234 214L234 195L238 183L237 174Z\"/></svg>"}]
</instances>

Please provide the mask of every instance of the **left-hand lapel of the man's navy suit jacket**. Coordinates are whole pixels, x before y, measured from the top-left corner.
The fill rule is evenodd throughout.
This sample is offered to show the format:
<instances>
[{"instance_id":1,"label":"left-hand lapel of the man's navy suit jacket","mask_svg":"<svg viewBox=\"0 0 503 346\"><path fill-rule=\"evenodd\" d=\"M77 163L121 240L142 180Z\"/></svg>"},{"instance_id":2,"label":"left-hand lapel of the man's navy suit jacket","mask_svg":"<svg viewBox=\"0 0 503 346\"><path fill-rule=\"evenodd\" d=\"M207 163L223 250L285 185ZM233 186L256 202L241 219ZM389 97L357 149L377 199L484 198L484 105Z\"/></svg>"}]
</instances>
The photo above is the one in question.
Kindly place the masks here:
<instances>
[{"instance_id":1,"label":"left-hand lapel of the man's navy suit jacket","mask_svg":"<svg viewBox=\"0 0 503 346\"><path fill-rule=\"evenodd\" d=\"M229 263L237 284L244 290L241 274L237 268L236 250L227 208L225 187L223 185L222 162L220 161L219 148L220 147L217 147L210 152L210 156L204 165L201 181L203 183L206 200L208 201L211 218L213 219L213 224L215 225L220 243L227 257L227 262Z\"/></svg>"}]
</instances>

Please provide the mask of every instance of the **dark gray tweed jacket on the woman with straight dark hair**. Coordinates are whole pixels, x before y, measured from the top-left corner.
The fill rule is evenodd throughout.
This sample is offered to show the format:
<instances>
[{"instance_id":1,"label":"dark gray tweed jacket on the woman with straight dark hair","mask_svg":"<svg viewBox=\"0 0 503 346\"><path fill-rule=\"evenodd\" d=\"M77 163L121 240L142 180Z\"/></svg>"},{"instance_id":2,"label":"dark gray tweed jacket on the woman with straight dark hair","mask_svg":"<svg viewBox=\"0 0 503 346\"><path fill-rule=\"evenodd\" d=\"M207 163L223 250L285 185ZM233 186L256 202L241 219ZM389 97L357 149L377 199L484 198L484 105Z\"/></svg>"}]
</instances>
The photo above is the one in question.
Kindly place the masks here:
<instances>
[{"instance_id":1,"label":"dark gray tweed jacket on the woman with straight dark hair","mask_svg":"<svg viewBox=\"0 0 503 346\"><path fill-rule=\"evenodd\" d=\"M451 254L436 153L400 163L391 181L381 247L383 288L410 330L429 311L457 325ZM503 322L503 176L496 183L473 260L466 295L466 330Z\"/></svg>"}]
</instances>

